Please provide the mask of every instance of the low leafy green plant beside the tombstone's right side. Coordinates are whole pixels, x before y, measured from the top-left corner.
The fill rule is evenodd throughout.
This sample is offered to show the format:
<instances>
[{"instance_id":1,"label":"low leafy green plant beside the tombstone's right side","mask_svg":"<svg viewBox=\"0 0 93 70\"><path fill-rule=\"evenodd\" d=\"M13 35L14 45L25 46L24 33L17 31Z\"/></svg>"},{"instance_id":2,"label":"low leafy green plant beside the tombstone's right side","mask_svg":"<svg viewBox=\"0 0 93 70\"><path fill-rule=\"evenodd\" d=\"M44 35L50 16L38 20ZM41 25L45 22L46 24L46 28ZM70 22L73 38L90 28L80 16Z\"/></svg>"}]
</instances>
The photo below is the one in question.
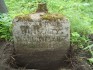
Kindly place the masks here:
<instances>
[{"instance_id":1,"label":"low leafy green plant beside the tombstone's right side","mask_svg":"<svg viewBox=\"0 0 93 70\"><path fill-rule=\"evenodd\" d=\"M71 33L71 43L77 45L79 48L84 48L88 45L89 39L85 36L81 36L77 32Z\"/></svg>"}]
</instances>

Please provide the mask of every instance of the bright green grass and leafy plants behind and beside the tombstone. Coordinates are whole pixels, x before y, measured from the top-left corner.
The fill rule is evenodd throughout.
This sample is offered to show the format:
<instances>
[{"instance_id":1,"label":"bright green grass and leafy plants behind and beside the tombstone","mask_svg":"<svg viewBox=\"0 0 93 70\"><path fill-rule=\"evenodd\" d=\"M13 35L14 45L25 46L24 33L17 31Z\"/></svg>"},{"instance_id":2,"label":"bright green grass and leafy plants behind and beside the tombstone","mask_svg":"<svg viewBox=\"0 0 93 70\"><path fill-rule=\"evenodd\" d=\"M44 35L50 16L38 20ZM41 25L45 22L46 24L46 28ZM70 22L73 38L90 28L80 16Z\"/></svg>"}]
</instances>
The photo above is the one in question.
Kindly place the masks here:
<instances>
[{"instance_id":1,"label":"bright green grass and leafy plants behind and beside the tombstone","mask_svg":"<svg viewBox=\"0 0 93 70\"><path fill-rule=\"evenodd\" d=\"M38 2L47 2L49 13L63 14L69 19L71 43L89 50L92 55L89 61L93 63L93 45L91 46L88 39L88 35L93 33L92 0L5 0L5 2L9 13L0 15L0 39L11 39L12 20L15 16L33 13Z\"/></svg>"}]
</instances>

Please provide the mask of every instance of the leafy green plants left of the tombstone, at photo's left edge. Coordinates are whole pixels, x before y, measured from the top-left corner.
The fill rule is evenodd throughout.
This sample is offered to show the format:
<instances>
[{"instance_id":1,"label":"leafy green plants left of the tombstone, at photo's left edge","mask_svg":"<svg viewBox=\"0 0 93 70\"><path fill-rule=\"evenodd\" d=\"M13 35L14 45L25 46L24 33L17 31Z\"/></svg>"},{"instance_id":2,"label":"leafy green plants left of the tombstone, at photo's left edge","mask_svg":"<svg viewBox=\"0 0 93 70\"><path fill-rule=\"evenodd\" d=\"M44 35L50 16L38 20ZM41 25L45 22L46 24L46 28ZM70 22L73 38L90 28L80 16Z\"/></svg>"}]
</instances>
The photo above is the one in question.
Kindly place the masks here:
<instances>
[{"instance_id":1,"label":"leafy green plants left of the tombstone, at photo's left edge","mask_svg":"<svg viewBox=\"0 0 93 70\"><path fill-rule=\"evenodd\" d=\"M11 18L7 14L0 15L0 39L10 40Z\"/></svg>"}]
</instances>

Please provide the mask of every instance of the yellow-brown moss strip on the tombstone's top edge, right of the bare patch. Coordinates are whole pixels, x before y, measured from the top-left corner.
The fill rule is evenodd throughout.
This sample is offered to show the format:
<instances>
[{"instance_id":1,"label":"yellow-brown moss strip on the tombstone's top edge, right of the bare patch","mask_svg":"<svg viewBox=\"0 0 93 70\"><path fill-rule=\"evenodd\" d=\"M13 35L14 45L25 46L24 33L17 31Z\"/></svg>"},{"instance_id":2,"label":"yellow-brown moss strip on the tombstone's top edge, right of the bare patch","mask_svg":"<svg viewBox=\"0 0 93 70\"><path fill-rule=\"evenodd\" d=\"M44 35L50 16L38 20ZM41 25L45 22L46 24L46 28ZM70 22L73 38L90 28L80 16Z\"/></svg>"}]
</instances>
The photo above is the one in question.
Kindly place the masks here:
<instances>
[{"instance_id":1,"label":"yellow-brown moss strip on the tombstone's top edge, right of the bare patch","mask_svg":"<svg viewBox=\"0 0 93 70\"><path fill-rule=\"evenodd\" d=\"M41 16L41 19L43 20L49 20L49 21L52 21L52 20L57 20L57 19L63 19L63 15L61 14L44 14Z\"/></svg>"}]
</instances>

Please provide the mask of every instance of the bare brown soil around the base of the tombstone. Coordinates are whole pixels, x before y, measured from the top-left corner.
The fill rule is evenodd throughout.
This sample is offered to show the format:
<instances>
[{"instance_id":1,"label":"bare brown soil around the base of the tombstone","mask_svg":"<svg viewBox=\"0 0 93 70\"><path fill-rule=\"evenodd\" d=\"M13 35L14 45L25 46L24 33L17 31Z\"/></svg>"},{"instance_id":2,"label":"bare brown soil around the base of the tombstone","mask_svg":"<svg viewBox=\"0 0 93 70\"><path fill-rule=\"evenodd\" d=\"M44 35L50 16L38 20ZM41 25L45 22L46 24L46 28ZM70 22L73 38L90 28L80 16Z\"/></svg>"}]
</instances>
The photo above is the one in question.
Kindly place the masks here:
<instances>
[{"instance_id":1,"label":"bare brown soil around the base of the tombstone","mask_svg":"<svg viewBox=\"0 0 93 70\"><path fill-rule=\"evenodd\" d=\"M72 56L73 52L69 50L70 54L68 55L67 63L63 65L67 65L66 68L59 68L59 69L51 69L51 70L93 70L91 69L90 65L88 65L84 60L80 59L77 60L76 56ZM10 42L0 41L0 70L38 70L38 69L25 69L25 67L18 67L14 64L14 58L12 55L14 54L14 47L13 44ZM73 59L74 57L74 59ZM70 62L70 64L68 64ZM71 67L69 67L71 66ZM15 68L12 68L15 67ZM48 70L48 69L47 69ZM50 69L49 69L50 70Z\"/></svg>"}]
</instances>

